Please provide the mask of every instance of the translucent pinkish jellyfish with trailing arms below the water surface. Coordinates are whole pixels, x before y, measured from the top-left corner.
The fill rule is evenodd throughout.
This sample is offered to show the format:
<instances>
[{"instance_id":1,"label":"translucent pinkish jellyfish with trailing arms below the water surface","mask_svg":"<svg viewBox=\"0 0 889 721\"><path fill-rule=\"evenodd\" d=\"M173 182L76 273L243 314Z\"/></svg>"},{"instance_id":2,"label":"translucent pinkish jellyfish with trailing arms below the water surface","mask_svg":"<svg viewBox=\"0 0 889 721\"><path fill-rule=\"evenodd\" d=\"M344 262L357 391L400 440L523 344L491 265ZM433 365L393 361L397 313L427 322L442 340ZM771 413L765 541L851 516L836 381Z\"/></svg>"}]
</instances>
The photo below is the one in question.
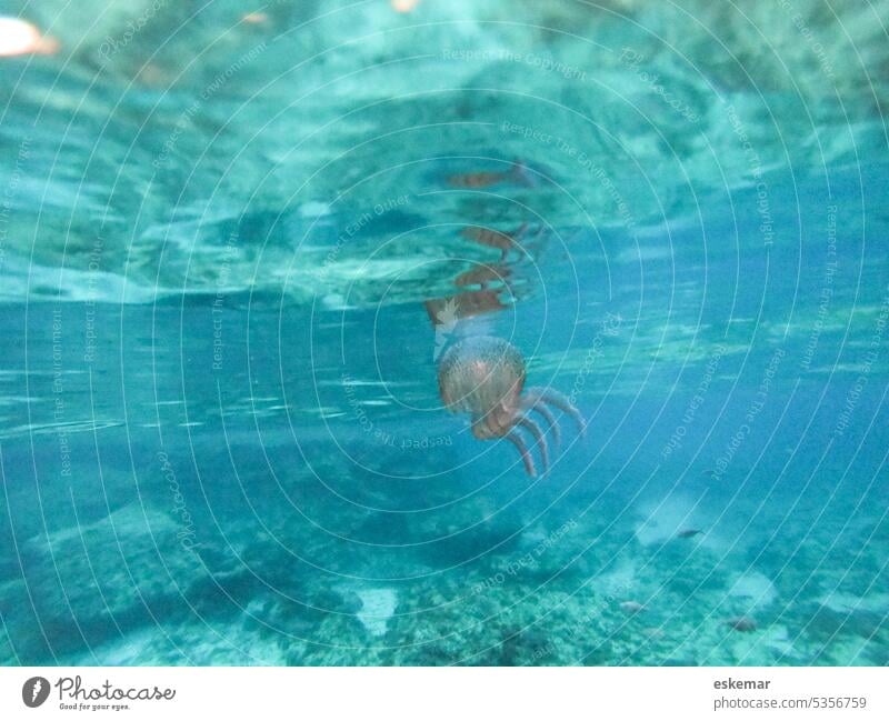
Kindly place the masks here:
<instances>
[{"instance_id":1,"label":"translucent pinkish jellyfish with trailing arms below the water surface","mask_svg":"<svg viewBox=\"0 0 889 721\"><path fill-rule=\"evenodd\" d=\"M466 338L448 349L438 369L441 400L453 413L469 413L472 435L479 440L505 438L521 454L528 475L537 468L519 429L530 433L540 452L543 473L549 469L549 444L532 413L547 424L556 445L561 440L553 408L569 415L585 434L583 417L559 391L525 388L525 360L511 343L489 336Z\"/></svg>"}]
</instances>

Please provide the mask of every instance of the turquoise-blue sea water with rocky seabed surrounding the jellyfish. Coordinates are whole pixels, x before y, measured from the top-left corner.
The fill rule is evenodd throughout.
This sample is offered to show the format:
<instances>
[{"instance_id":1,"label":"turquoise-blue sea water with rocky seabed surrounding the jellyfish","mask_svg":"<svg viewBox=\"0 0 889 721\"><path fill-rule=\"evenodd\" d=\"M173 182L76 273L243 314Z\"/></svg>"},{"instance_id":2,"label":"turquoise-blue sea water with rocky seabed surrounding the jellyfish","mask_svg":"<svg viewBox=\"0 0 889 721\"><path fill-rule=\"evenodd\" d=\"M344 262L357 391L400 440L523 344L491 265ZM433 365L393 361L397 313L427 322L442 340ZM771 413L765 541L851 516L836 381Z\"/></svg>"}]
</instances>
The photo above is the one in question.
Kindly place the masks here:
<instances>
[{"instance_id":1,"label":"turquoise-blue sea water with rocky seabed surrounding the jellyfish","mask_svg":"<svg viewBox=\"0 0 889 721\"><path fill-rule=\"evenodd\" d=\"M889 4L244 12L0 2L0 662L889 663Z\"/></svg>"}]
</instances>

